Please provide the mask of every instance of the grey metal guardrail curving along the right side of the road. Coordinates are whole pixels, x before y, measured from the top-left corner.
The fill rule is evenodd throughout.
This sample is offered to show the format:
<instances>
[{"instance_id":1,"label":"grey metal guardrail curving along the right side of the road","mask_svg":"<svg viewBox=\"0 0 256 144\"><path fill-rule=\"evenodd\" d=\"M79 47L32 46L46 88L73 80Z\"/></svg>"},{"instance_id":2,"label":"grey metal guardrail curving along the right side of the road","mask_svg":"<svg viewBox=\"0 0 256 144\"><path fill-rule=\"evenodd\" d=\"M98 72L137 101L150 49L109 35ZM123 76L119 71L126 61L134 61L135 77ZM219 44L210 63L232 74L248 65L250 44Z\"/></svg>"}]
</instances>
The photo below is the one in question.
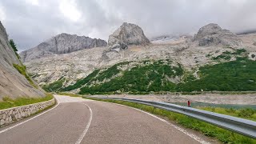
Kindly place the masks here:
<instances>
[{"instance_id":1,"label":"grey metal guardrail curving along the right side of the road","mask_svg":"<svg viewBox=\"0 0 256 144\"><path fill-rule=\"evenodd\" d=\"M98 98L98 97L97 97ZM178 106L166 102L152 102L131 98L102 98L113 99L126 102L136 102L148 106L154 106L163 110L170 110L179 114L185 114L192 118L197 118L215 126L234 131L238 134L246 135L250 138L256 138L256 122L243 118L236 118L225 114L217 114L206 110L198 110L186 106Z\"/></svg>"}]
</instances>

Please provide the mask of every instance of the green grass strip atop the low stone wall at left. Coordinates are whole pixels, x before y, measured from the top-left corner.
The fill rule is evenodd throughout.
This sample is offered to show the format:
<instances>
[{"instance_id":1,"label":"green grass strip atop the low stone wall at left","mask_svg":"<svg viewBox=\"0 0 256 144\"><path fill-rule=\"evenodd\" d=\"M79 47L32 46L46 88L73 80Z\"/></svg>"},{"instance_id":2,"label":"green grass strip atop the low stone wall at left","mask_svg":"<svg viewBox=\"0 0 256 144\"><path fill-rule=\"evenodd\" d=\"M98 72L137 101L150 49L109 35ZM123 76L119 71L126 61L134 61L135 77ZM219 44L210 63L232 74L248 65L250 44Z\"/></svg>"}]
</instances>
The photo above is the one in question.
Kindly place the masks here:
<instances>
[{"instance_id":1,"label":"green grass strip atop the low stone wall at left","mask_svg":"<svg viewBox=\"0 0 256 144\"><path fill-rule=\"evenodd\" d=\"M43 98L21 97L21 98L12 99L9 97L4 97L2 98L2 102L0 102L0 110L7 109L10 107L15 107L15 106L24 106L32 103L45 102L52 98L54 98L54 96L51 94L46 94L46 97L43 97Z\"/></svg>"}]
</instances>

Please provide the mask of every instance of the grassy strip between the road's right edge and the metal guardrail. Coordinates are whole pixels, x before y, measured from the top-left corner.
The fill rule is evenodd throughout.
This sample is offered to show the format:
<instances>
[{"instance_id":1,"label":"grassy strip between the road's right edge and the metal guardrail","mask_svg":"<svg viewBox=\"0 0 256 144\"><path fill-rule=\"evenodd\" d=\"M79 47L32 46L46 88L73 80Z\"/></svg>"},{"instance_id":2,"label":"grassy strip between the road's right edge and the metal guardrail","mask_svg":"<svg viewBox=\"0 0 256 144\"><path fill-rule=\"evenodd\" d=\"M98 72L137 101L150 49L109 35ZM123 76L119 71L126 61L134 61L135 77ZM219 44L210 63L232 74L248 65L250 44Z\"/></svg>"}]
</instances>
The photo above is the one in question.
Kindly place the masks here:
<instances>
[{"instance_id":1,"label":"grassy strip between the road's right edge and the metal guardrail","mask_svg":"<svg viewBox=\"0 0 256 144\"><path fill-rule=\"evenodd\" d=\"M219 128L218 126L214 126L209 123L199 121L195 118L190 118L186 115L177 114L167 110L161 110L158 108L154 108L153 106L146 106L134 102L123 102L117 100L102 100L98 98L88 99L104 102L114 102L125 106L131 106L140 110L144 110L150 112L151 114L161 115L163 117L170 119L170 121L177 123L178 125L199 131L208 137L217 138L222 143L256 143L256 140L253 138L247 138L241 134L235 134L234 132L224 130L222 128Z\"/></svg>"}]
</instances>

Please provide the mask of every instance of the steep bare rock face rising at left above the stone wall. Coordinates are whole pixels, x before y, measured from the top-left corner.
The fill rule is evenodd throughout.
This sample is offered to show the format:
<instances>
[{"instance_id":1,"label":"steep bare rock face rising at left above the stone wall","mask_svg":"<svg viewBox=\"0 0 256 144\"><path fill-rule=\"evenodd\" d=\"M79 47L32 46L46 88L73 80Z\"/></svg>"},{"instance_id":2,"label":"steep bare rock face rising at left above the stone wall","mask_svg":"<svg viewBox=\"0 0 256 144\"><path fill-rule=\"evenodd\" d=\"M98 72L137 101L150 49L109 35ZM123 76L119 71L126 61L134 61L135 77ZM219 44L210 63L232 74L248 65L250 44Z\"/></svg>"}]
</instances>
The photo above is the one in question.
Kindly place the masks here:
<instances>
[{"instance_id":1,"label":"steep bare rock face rising at left above the stone wall","mask_svg":"<svg viewBox=\"0 0 256 144\"><path fill-rule=\"evenodd\" d=\"M34 88L13 66L22 66L10 47L5 28L0 22L0 101L3 97L43 97L45 92Z\"/></svg>"}]
</instances>

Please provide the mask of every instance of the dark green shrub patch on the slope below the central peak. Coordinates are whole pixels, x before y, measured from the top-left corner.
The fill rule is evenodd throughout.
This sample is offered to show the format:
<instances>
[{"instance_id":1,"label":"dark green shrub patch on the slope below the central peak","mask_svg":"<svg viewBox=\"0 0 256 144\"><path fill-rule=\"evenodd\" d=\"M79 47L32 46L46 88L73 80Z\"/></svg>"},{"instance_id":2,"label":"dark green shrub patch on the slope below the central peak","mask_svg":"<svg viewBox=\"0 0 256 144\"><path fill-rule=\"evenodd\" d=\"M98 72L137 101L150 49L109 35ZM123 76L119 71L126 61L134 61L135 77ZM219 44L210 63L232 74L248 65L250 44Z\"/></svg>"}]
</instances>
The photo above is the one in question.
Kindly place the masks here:
<instances>
[{"instance_id":1,"label":"dark green shrub patch on the slope below the central peak","mask_svg":"<svg viewBox=\"0 0 256 144\"><path fill-rule=\"evenodd\" d=\"M139 94L149 93L150 91L170 91L174 90L175 85L166 77L181 77L183 74L182 66L171 66L171 61L168 59L140 63L144 65L138 64L131 70L122 71L121 76L112 78L109 82L94 86L83 86L79 94L114 93L116 91ZM92 80L102 81L105 77L111 78L113 75L120 73L117 67L125 64L122 62L111 66Z\"/></svg>"}]
</instances>

